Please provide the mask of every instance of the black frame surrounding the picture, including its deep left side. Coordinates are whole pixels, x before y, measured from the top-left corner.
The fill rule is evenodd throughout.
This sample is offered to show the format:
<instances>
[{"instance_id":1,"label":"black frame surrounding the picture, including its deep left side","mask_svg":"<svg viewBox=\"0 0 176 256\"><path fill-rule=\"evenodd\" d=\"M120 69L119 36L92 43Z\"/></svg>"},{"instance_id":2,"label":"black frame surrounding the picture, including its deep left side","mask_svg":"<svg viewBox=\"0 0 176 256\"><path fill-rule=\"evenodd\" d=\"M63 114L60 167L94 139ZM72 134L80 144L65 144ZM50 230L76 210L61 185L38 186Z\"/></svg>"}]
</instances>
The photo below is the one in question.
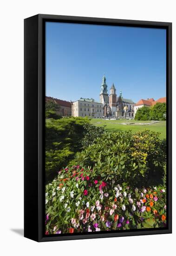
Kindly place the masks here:
<instances>
[{"instance_id":1,"label":"black frame surrounding the picture, including its deep left side","mask_svg":"<svg viewBox=\"0 0 176 256\"><path fill-rule=\"evenodd\" d=\"M45 235L45 22L165 28L167 34L167 227ZM172 23L38 14L24 20L24 236L38 242L172 232Z\"/></svg>"}]
</instances>

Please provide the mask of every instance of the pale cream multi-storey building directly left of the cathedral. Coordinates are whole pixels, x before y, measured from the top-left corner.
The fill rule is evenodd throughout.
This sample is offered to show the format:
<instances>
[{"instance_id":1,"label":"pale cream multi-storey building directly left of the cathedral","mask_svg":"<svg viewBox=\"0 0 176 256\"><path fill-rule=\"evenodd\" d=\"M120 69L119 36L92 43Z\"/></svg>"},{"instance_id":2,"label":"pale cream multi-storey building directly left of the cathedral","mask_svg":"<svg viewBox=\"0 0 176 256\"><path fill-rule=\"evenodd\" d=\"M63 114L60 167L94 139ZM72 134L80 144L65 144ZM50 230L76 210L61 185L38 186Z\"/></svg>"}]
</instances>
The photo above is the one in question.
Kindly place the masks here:
<instances>
[{"instance_id":1,"label":"pale cream multi-storey building directly left of the cathedral","mask_svg":"<svg viewBox=\"0 0 176 256\"><path fill-rule=\"evenodd\" d=\"M103 117L103 104L94 99L80 98L72 102L72 116L89 116L91 118Z\"/></svg>"}]
</instances>

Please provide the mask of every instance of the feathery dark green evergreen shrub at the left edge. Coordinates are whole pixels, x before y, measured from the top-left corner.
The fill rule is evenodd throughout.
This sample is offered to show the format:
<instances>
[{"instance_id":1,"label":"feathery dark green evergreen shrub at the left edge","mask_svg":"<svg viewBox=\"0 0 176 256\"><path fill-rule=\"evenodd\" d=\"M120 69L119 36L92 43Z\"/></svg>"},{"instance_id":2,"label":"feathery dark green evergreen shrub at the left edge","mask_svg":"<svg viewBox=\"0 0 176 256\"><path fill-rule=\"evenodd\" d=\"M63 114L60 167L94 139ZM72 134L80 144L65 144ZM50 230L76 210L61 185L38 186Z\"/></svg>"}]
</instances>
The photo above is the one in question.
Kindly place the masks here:
<instances>
[{"instance_id":1,"label":"feathery dark green evergreen shrub at the left edge","mask_svg":"<svg viewBox=\"0 0 176 256\"><path fill-rule=\"evenodd\" d=\"M46 183L81 150L86 123L79 117L46 120Z\"/></svg>"}]
</instances>

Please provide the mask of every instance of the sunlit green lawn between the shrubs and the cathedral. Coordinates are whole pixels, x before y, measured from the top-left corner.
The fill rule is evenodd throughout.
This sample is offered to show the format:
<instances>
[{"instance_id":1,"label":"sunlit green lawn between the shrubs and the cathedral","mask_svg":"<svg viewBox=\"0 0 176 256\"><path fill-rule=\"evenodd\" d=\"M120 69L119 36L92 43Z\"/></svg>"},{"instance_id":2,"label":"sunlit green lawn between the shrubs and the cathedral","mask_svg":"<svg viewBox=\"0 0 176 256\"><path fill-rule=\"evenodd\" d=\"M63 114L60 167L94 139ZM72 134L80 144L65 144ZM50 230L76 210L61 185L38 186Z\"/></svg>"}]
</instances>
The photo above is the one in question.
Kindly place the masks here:
<instances>
[{"instance_id":1,"label":"sunlit green lawn between the shrubs and the cathedral","mask_svg":"<svg viewBox=\"0 0 176 256\"><path fill-rule=\"evenodd\" d=\"M137 124L128 124L125 125L123 123L151 123L151 121L135 121L135 120L103 120L103 119L91 119L91 123L95 126L104 126L108 131L115 131L115 130L132 130L137 132L139 130L143 131L145 129L149 129L155 132L159 132L161 138L166 138L166 121L161 121L154 124L144 124L144 125L137 125Z\"/></svg>"}]
</instances>

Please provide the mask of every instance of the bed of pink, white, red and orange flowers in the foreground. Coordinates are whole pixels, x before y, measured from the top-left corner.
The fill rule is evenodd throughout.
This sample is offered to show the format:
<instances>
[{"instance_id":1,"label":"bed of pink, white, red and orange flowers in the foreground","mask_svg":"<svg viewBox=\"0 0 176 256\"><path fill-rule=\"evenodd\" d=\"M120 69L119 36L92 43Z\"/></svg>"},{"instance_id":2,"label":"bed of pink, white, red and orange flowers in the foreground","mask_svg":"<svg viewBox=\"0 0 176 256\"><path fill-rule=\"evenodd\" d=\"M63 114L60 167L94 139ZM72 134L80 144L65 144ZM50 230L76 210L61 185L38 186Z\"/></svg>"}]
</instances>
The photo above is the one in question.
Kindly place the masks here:
<instances>
[{"instance_id":1,"label":"bed of pink, white, red and orange flowers in the foreground","mask_svg":"<svg viewBox=\"0 0 176 256\"><path fill-rule=\"evenodd\" d=\"M166 225L165 188L132 188L72 166L46 185L46 235Z\"/></svg>"}]
</instances>

